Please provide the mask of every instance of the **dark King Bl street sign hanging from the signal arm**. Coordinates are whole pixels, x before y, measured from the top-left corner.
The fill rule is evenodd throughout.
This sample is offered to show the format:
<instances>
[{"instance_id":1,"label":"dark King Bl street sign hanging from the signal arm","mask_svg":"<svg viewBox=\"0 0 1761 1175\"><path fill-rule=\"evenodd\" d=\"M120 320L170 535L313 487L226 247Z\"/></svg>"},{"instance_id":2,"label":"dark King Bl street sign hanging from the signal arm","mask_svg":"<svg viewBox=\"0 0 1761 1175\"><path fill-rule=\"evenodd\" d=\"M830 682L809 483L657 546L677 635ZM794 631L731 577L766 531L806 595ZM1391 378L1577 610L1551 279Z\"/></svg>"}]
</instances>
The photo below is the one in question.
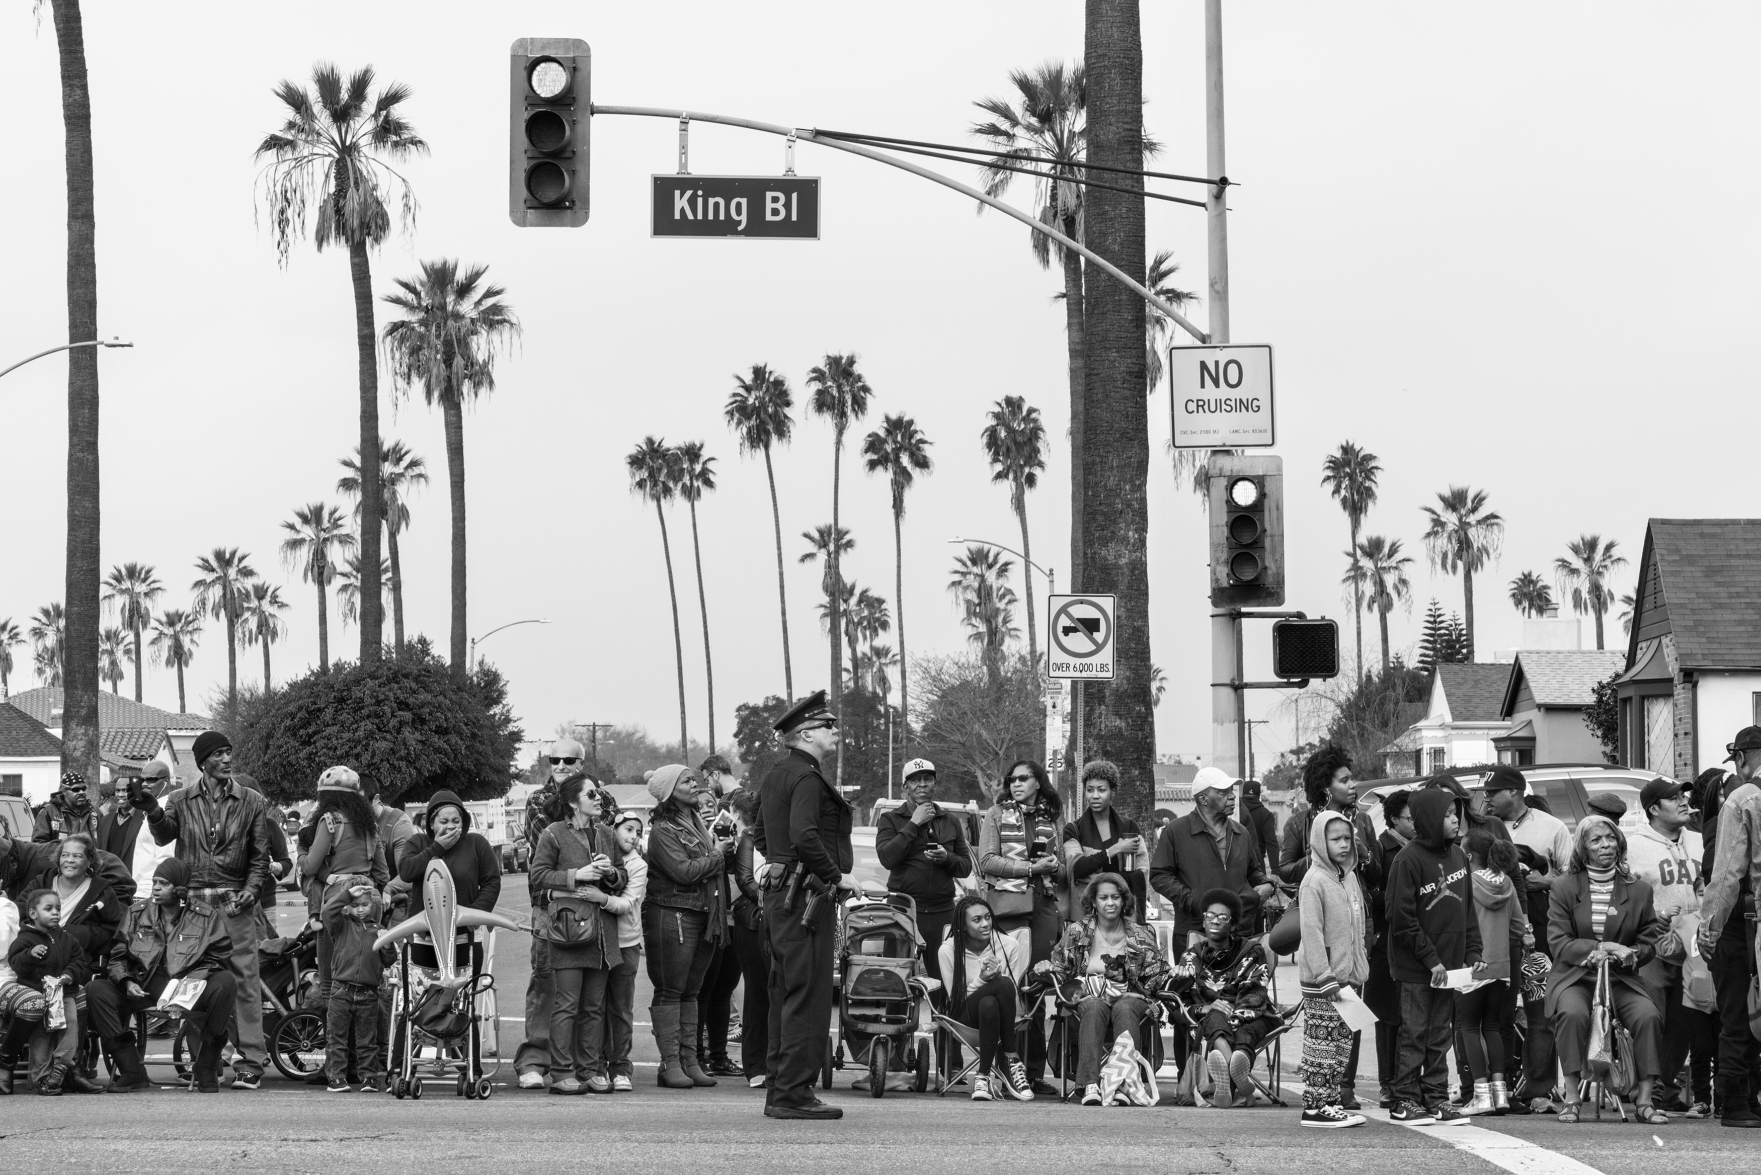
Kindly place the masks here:
<instances>
[{"instance_id":1,"label":"dark King Bl street sign hanging from the signal arm","mask_svg":"<svg viewBox=\"0 0 1761 1175\"><path fill-rule=\"evenodd\" d=\"M650 236L819 240L819 176L653 176Z\"/></svg>"}]
</instances>

